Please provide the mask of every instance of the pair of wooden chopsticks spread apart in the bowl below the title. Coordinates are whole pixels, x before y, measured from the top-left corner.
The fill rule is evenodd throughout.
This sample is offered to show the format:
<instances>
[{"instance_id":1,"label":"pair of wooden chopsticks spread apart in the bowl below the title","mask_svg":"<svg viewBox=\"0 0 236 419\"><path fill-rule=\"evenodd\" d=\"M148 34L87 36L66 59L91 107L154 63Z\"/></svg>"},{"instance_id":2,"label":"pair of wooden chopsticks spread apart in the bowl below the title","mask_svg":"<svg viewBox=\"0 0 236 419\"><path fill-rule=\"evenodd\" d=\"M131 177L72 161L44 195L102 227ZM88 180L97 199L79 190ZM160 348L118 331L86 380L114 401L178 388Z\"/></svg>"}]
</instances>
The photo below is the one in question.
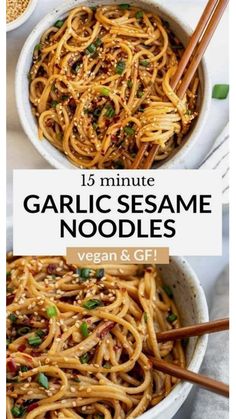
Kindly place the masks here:
<instances>
[{"instance_id":1,"label":"pair of wooden chopsticks spread apart in the bowl below the title","mask_svg":"<svg viewBox=\"0 0 236 419\"><path fill-rule=\"evenodd\" d=\"M229 319L214 320L207 323L195 324L193 326L180 327L178 329L168 330L166 332L157 333L158 342L167 342L170 340L183 339L191 336L201 336L205 333L221 332L229 329ZM150 358L153 365L159 371L180 378L190 383L198 384L200 387L224 397L229 397L229 386L220 381L213 380L201 374L196 374L185 368L182 368L171 362L166 362L157 358Z\"/></svg>"}]
</instances>

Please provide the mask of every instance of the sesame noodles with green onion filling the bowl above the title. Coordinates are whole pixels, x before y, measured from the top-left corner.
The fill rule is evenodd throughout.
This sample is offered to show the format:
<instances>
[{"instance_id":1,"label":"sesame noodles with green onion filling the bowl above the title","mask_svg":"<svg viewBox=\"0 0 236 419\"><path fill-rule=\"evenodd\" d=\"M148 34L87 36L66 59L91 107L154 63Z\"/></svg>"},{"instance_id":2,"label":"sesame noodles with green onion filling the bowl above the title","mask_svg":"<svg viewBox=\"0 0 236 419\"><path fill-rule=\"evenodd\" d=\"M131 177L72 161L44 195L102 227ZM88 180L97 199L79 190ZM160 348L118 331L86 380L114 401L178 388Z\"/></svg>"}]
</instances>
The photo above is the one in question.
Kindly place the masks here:
<instances>
[{"instance_id":1,"label":"sesame noodles with green onion filling the bowl above the title","mask_svg":"<svg viewBox=\"0 0 236 419\"><path fill-rule=\"evenodd\" d=\"M40 138L82 168L130 168L143 142L166 159L197 115L198 77L182 100L170 86L183 51L148 11L75 8L34 49L30 101Z\"/></svg>"}]
</instances>

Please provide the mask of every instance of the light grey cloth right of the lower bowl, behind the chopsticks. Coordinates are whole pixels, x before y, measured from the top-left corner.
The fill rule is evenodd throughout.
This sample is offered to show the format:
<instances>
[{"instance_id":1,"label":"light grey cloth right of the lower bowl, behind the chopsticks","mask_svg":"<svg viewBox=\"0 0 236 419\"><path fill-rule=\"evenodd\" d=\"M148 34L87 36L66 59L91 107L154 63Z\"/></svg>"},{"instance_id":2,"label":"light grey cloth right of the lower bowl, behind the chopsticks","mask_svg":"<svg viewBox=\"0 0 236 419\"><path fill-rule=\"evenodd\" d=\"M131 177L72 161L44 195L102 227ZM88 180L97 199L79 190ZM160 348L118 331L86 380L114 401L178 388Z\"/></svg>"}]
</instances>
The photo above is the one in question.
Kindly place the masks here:
<instances>
[{"instance_id":1,"label":"light grey cloth right of the lower bowl, behind the chopsticks","mask_svg":"<svg viewBox=\"0 0 236 419\"><path fill-rule=\"evenodd\" d=\"M216 282L210 318L228 317L229 270L222 273ZM208 348L201 373L216 380L229 382L229 334L220 332L209 335ZM198 389L193 403L191 419L228 419L228 400L217 394Z\"/></svg>"}]
</instances>

